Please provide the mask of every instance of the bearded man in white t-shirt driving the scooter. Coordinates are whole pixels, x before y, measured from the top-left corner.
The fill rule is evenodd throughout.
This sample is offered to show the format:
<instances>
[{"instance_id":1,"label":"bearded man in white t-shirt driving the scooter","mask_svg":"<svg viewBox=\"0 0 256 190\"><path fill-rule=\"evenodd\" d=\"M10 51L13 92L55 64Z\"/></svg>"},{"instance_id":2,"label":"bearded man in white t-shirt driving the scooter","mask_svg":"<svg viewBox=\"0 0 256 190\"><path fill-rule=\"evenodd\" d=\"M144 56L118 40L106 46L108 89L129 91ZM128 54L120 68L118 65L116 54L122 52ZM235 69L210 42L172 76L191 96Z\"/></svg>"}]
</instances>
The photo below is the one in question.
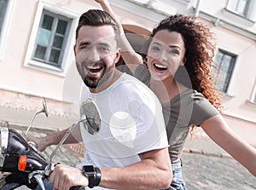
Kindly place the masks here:
<instances>
[{"instance_id":1,"label":"bearded man in white t-shirt driving the scooter","mask_svg":"<svg viewBox=\"0 0 256 190\"><path fill-rule=\"evenodd\" d=\"M57 164L49 176L54 189L165 189L172 181L160 102L143 83L119 72L119 27L101 10L81 15L74 54L84 81L81 101L90 98L102 118L95 134L80 126L86 148L76 168ZM67 130L35 141L39 150L57 144ZM65 143L77 142L69 136Z\"/></svg>"}]
</instances>

